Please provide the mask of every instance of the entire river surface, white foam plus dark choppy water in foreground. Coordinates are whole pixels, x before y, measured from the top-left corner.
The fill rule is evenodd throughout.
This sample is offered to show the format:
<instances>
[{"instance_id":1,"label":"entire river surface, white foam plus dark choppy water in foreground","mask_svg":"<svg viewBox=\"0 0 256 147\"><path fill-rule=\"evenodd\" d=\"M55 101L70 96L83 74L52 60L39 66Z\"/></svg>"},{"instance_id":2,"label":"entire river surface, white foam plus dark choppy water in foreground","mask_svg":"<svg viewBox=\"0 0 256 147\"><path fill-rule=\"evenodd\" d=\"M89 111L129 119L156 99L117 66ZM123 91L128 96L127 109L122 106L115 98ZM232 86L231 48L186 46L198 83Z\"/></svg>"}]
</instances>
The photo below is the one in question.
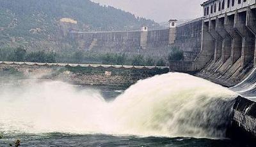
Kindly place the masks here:
<instances>
[{"instance_id":1,"label":"entire river surface, white foam plus dark choppy water in foreground","mask_svg":"<svg viewBox=\"0 0 256 147\"><path fill-rule=\"evenodd\" d=\"M127 90L60 81L1 85L0 146L238 146L225 139L236 94L168 73Z\"/></svg>"}]
</instances>

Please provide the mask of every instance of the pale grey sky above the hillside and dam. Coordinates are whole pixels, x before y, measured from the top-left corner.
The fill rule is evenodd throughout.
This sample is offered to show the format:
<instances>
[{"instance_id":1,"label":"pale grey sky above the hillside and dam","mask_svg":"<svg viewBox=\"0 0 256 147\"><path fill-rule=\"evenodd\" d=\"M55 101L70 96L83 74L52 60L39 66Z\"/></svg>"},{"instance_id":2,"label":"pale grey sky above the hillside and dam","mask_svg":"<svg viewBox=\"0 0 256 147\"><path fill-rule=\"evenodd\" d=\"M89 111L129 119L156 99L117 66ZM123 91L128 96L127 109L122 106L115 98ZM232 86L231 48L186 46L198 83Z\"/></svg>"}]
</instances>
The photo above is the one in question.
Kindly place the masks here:
<instances>
[{"instance_id":1,"label":"pale grey sky above the hillside and dam","mask_svg":"<svg viewBox=\"0 0 256 147\"><path fill-rule=\"evenodd\" d=\"M202 4L205 0L91 0L101 5L114 6L129 11L138 17L156 22L166 22L171 18L179 20L202 16Z\"/></svg>"}]
</instances>

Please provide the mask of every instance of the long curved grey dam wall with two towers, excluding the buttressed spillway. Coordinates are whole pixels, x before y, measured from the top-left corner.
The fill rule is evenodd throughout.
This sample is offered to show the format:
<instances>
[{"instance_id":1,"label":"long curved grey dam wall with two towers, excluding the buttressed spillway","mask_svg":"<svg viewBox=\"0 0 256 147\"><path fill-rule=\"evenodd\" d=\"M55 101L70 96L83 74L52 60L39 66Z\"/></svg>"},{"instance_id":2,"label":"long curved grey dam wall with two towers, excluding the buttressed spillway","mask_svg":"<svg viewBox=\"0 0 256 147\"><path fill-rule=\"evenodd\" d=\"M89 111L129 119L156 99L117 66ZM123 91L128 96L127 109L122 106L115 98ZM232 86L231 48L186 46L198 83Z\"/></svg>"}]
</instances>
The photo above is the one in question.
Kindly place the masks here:
<instances>
[{"instance_id":1,"label":"long curved grey dam wall with two towers, excluding the buttressed spillway","mask_svg":"<svg viewBox=\"0 0 256 147\"><path fill-rule=\"evenodd\" d=\"M70 31L67 36L74 39L80 50L99 53L142 54L166 58L172 47L184 52L185 60L195 60L200 52L202 18L178 25L170 20L170 27L140 31L79 32Z\"/></svg>"}]
</instances>

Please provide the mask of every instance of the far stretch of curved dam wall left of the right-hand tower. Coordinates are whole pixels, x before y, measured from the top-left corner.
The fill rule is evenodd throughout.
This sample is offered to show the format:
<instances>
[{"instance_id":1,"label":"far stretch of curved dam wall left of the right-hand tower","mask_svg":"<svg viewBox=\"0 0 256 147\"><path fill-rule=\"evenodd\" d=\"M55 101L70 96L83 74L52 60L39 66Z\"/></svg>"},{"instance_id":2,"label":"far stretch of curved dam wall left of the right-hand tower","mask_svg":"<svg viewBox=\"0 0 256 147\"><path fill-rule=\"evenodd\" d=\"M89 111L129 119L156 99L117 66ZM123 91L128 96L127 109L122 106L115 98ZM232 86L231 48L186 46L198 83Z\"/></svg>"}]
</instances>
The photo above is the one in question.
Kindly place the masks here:
<instances>
[{"instance_id":1,"label":"far stretch of curved dam wall left of the right-hand tower","mask_svg":"<svg viewBox=\"0 0 256 147\"><path fill-rule=\"evenodd\" d=\"M172 29L116 32L70 32L80 50L98 53L142 54L153 57L168 55ZM175 34L173 34L175 35Z\"/></svg>"}]
</instances>

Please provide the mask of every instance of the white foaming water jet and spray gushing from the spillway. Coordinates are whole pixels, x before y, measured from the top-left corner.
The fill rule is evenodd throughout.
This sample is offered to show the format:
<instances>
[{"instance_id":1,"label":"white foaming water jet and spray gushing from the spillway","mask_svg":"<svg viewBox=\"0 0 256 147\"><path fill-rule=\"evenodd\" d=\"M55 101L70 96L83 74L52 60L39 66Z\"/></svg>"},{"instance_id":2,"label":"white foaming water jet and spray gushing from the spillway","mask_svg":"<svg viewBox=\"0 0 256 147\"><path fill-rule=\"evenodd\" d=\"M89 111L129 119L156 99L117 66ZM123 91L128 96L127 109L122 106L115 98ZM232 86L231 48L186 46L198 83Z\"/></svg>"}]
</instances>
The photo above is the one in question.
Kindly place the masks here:
<instances>
[{"instance_id":1,"label":"white foaming water jet and spray gushing from the spillway","mask_svg":"<svg viewBox=\"0 0 256 147\"><path fill-rule=\"evenodd\" d=\"M225 137L236 94L188 74L138 81L113 102L59 81L0 90L3 132Z\"/></svg>"}]
</instances>

